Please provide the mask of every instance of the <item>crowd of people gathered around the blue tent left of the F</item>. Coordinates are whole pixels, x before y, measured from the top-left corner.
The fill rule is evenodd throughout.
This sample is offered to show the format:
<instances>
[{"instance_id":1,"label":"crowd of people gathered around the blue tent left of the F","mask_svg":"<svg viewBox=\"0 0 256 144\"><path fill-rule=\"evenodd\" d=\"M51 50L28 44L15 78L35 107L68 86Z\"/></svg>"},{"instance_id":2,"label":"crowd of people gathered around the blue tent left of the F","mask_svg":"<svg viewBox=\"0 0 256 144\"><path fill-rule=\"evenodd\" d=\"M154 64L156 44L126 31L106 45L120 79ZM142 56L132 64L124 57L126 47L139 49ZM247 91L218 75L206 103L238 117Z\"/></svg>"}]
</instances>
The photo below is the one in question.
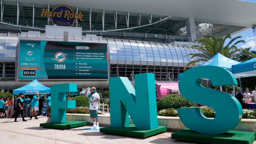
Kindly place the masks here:
<instances>
[{"instance_id":1,"label":"crowd of people gathered around the blue tent left of the F","mask_svg":"<svg viewBox=\"0 0 256 144\"><path fill-rule=\"evenodd\" d=\"M28 96L24 99L24 94L19 93L19 96L16 96L14 99L7 97L5 101L0 97L0 118L15 118L14 122L18 122L17 118L21 117L24 119L24 108L29 112L30 120L34 116L35 119L38 119L37 116L42 114L43 106L47 106L47 117L51 117L51 94L47 96L47 99L43 95L39 96L39 93L36 92L35 95L31 98ZM39 111L39 114L38 114Z\"/></svg>"}]
</instances>

